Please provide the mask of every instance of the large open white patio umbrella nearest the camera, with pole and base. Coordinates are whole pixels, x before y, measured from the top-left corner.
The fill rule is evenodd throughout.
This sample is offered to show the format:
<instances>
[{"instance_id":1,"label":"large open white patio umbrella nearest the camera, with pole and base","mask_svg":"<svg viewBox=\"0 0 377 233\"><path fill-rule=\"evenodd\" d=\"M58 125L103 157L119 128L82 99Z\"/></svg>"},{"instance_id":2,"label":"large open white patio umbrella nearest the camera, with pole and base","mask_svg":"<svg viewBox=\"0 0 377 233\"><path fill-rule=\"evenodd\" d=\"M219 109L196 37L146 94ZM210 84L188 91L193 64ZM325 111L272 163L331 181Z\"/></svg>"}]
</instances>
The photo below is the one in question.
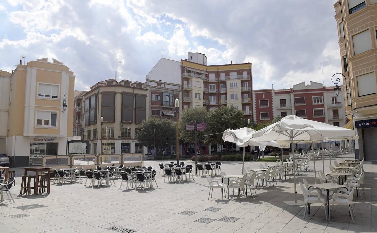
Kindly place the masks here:
<instances>
[{"instance_id":1,"label":"large open white patio umbrella nearest the camera, with pole and base","mask_svg":"<svg viewBox=\"0 0 377 233\"><path fill-rule=\"evenodd\" d=\"M292 155L294 162L294 149L293 144L295 141L319 141L329 138L345 138L353 137L355 132L345 128L329 125L322 122L303 119L295 115L285 116L279 122L273 123L255 133L248 135L243 141L250 139L257 140L259 142L270 141L290 141L292 144ZM296 169L293 166L293 179L294 179L294 203L285 202L290 205L302 205L297 203L296 195Z\"/></svg>"}]
</instances>

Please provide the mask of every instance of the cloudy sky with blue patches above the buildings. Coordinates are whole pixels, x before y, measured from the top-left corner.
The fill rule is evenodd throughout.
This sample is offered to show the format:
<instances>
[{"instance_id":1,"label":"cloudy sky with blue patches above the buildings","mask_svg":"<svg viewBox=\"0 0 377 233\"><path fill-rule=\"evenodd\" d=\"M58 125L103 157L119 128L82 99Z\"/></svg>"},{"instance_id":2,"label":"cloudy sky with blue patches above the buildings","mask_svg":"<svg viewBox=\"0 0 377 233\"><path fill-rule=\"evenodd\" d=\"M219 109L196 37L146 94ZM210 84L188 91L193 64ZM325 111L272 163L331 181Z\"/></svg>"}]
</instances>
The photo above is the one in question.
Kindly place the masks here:
<instances>
[{"instance_id":1,"label":"cloudy sky with blue patches above the buildings","mask_svg":"<svg viewBox=\"0 0 377 233\"><path fill-rule=\"evenodd\" d=\"M55 58L83 90L115 77L115 62L118 79L143 82L161 57L198 51L208 65L250 61L256 89L322 82L322 69L331 85L341 72L335 2L1 0L0 69Z\"/></svg>"}]
</instances>

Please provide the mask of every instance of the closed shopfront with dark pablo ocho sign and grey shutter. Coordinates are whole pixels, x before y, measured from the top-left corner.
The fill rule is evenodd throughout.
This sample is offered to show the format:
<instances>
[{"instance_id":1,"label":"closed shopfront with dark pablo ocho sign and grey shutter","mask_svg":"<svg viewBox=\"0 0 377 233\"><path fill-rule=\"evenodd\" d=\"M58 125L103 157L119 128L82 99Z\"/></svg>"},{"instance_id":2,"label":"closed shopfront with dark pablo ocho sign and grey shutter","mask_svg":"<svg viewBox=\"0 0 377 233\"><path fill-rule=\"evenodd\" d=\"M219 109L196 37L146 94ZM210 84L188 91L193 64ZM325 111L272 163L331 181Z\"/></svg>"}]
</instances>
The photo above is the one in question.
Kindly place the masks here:
<instances>
[{"instance_id":1,"label":"closed shopfront with dark pablo ocho sign and grey shutter","mask_svg":"<svg viewBox=\"0 0 377 233\"><path fill-rule=\"evenodd\" d=\"M355 128L358 129L358 132L361 130L360 139L365 161L377 161L377 119L357 120Z\"/></svg>"}]
</instances>

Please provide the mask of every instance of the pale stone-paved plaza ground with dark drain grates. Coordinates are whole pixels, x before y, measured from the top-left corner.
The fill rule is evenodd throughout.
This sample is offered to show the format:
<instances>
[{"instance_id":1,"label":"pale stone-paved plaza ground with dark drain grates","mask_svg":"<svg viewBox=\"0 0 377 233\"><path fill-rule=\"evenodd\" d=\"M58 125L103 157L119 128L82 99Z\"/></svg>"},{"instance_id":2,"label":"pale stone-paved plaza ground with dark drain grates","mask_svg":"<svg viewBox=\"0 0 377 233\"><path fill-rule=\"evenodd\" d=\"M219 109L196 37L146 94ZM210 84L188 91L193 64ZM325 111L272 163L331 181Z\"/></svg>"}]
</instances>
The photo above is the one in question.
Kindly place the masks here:
<instances>
[{"instance_id":1,"label":"pale stone-paved plaza ground with dark drain grates","mask_svg":"<svg viewBox=\"0 0 377 233\"><path fill-rule=\"evenodd\" d=\"M353 156L343 154L343 157ZM190 160L184 161L194 164ZM144 165L159 170L159 162L170 161L145 161ZM246 162L245 166L259 168L261 163L264 164ZM325 171L329 171L328 164L326 159ZM241 167L242 162L224 162L222 171L239 174ZM322 160L316 160L316 168L322 169ZM313 161L310 169L297 177L297 184L302 179L314 184ZM289 206L283 202L294 200L293 178L279 180L271 187L259 187L257 196L253 190L253 197L231 195L229 200L222 199L220 189L214 189L213 197L208 200L209 186L205 177L195 177L194 174L195 181L168 183L166 179L164 183L162 171L156 178L158 188L154 185L152 190L125 190L125 184L119 190L121 179L118 179L116 186L92 188L84 187L80 182L52 184L48 196L18 196L23 170L15 169L16 186L11 189L15 203L5 201L0 204L0 232L116 232L108 230L111 227L155 233L377 232L377 193L374 192L377 165L365 164L364 169L366 196L361 200L360 193L357 198L355 194L354 224L348 216L347 206L335 206L334 216L328 222L323 207L312 204L310 215L303 219L304 206ZM297 197L302 200L301 193L297 185ZM28 210L18 208L33 204L42 206ZM17 214L22 215L14 216Z\"/></svg>"}]
</instances>

